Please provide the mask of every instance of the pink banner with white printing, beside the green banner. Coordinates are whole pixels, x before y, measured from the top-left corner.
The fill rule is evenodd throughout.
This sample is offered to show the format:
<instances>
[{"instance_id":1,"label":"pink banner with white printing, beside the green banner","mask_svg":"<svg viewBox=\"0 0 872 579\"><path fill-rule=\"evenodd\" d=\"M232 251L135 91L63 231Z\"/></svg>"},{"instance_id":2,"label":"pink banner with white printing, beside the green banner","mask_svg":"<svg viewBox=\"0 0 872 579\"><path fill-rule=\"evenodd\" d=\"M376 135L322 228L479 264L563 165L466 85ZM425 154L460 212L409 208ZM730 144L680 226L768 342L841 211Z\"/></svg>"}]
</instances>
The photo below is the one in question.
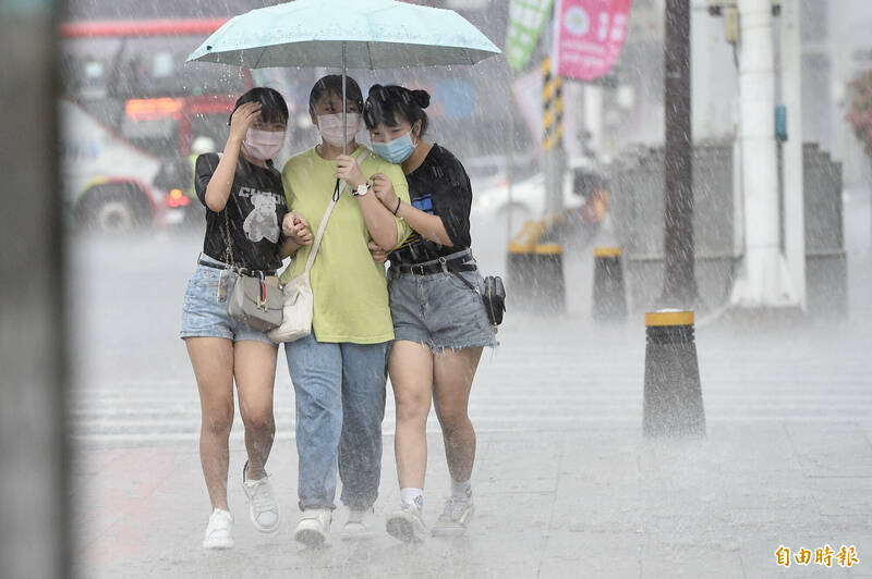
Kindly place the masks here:
<instances>
[{"instance_id":1,"label":"pink banner with white printing, beside the green banner","mask_svg":"<svg viewBox=\"0 0 872 579\"><path fill-rule=\"evenodd\" d=\"M557 75L593 81L618 60L632 0L558 0L555 7Z\"/></svg>"}]
</instances>

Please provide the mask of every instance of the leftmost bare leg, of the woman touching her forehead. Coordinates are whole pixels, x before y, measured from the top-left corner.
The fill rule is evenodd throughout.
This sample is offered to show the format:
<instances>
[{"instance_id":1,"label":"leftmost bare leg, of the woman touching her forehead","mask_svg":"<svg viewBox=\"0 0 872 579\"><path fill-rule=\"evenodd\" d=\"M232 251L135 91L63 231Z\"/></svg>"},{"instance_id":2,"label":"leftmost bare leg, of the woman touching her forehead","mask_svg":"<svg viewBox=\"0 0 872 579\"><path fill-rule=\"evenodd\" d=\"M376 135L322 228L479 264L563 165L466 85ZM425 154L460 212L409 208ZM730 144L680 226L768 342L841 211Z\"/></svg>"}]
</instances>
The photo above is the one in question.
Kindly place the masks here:
<instances>
[{"instance_id":1,"label":"leftmost bare leg, of the woman touching her forehead","mask_svg":"<svg viewBox=\"0 0 872 579\"><path fill-rule=\"evenodd\" d=\"M227 506L228 438L233 427L233 343L223 337L189 337L187 356L199 391L199 461L213 508Z\"/></svg>"}]
</instances>

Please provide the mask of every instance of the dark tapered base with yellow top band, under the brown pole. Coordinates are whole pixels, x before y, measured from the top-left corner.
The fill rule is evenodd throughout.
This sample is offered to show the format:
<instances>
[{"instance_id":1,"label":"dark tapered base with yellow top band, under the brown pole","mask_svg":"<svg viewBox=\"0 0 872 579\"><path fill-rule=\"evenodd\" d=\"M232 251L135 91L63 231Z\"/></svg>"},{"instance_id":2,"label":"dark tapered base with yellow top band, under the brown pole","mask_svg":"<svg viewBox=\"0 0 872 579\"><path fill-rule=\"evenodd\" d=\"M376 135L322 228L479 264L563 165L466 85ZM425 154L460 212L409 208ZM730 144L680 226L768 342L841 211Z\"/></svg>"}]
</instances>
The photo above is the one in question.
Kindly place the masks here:
<instances>
[{"instance_id":1,"label":"dark tapered base with yellow top band, under the brown pole","mask_svg":"<svg viewBox=\"0 0 872 579\"><path fill-rule=\"evenodd\" d=\"M705 436L693 312L645 313L645 436Z\"/></svg>"}]
</instances>

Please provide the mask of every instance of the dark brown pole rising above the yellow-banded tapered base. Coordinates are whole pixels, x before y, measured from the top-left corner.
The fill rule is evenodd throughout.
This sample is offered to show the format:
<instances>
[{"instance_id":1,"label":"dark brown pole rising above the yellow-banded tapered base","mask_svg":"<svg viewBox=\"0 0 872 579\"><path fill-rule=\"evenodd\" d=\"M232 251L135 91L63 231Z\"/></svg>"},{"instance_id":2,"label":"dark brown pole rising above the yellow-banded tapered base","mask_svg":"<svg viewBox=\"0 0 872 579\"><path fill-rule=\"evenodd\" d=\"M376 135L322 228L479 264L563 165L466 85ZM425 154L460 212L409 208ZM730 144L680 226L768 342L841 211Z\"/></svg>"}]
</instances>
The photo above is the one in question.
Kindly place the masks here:
<instances>
[{"instance_id":1,"label":"dark brown pole rising above the yellow-banded tapered base","mask_svg":"<svg viewBox=\"0 0 872 579\"><path fill-rule=\"evenodd\" d=\"M690 0L666 0L664 307L693 308L693 168L690 126Z\"/></svg>"}]
</instances>

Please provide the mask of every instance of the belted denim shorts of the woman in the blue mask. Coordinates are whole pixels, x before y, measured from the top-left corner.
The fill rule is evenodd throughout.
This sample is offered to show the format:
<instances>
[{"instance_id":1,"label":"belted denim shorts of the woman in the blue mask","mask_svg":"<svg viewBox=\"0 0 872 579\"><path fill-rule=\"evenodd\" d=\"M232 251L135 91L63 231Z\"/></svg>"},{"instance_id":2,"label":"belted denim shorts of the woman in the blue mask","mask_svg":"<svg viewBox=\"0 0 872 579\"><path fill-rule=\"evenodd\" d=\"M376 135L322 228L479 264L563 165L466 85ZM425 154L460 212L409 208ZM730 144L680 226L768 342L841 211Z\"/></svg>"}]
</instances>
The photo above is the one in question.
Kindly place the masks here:
<instances>
[{"instance_id":1,"label":"belted denim shorts of the woman in the blue mask","mask_svg":"<svg viewBox=\"0 0 872 579\"><path fill-rule=\"evenodd\" d=\"M426 344L434 354L445 348L457 350L497 345L482 296L458 275L479 292L483 291L484 280L479 270L426 275L399 273L396 268L389 270L395 340Z\"/></svg>"}]
</instances>

